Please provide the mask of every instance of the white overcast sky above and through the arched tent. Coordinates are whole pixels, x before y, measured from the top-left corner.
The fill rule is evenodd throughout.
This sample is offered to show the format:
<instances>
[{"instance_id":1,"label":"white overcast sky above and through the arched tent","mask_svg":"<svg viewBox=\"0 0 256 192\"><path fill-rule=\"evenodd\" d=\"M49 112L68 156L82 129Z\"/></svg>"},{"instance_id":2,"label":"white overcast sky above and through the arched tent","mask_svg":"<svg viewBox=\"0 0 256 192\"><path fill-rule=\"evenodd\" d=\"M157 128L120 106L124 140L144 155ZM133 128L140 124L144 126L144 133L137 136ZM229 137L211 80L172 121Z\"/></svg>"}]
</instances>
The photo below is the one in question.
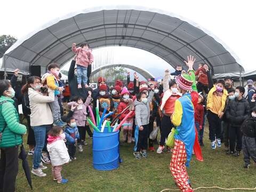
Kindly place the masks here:
<instances>
[{"instance_id":1,"label":"white overcast sky above and through the arched tent","mask_svg":"<svg viewBox=\"0 0 256 192\"><path fill-rule=\"evenodd\" d=\"M0 35L10 34L21 38L52 19L70 12L101 5L139 5L181 15L211 31L211 34L221 39L238 56L238 62L246 71L255 69L256 1L249 0L215 0L211 2L199 0L2 1ZM131 55L127 54L127 50L124 51L127 47L109 49L114 49L115 62L139 64L142 68L150 69L153 74L155 71L151 71L151 69L156 66L155 63L157 63L158 68L170 67L162 59L143 50L135 49ZM95 54L98 54L96 50ZM157 76L158 73L155 75Z\"/></svg>"}]
</instances>

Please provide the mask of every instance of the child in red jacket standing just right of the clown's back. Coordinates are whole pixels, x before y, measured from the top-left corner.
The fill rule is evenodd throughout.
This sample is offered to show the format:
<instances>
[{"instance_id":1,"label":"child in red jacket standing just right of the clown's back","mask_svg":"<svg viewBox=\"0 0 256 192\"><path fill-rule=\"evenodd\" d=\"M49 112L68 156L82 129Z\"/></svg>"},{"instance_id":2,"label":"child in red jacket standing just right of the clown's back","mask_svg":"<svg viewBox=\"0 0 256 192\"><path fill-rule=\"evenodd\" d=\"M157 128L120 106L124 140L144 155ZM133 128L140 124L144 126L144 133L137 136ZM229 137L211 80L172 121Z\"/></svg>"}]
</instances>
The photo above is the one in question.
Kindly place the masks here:
<instances>
[{"instance_id":1,"label":"child in red jacket standing just right of the clown's back","mask_svg":"<svg viewBox=\"0 0 256 192\"><path fill-rule=\"evenodd\" d=\"M198 102L195 110L195 124L196 124L196 130L198 135L198 141L201 146L203 146L203 124L204 124L204 97L202 94L198 94Z\"/></svg>"}]
</instances>

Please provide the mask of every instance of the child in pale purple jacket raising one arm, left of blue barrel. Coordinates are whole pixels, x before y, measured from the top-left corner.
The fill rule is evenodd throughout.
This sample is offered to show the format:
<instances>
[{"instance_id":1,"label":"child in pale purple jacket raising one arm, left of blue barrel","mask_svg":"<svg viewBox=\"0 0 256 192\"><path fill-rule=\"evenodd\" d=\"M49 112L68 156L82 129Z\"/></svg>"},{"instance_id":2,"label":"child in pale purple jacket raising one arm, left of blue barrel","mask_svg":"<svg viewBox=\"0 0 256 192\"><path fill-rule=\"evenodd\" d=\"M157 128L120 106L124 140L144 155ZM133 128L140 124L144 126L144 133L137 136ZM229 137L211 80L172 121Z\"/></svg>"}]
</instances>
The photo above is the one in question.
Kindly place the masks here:
<instances>
[{"instance_id":1,"label":"child in pale purple jacket raising one arm, left of blue barrel","mask_svg":"<svg viewBox=\"0 0 256 192\"><path fill-rule=\"evenodd\" d=\"M83 144L83 142L85 142L85 140L82 141L82 139L85 139L87 107L91 103L91 100L92 100L91 95L92 95L92 92L88 91L88 97L87 97L85 103L83 101L83 98L81 98L81 97L76 97L76 98L74 98L74 101L68 103L69 107L71 107L73 104L77 105L76 109L74 110L73 118L75 119L78 131L79 131L79 135L80 135L80 138L78 139L79 152L83 152L82 144Z\"/></svg>"}]
</instances>

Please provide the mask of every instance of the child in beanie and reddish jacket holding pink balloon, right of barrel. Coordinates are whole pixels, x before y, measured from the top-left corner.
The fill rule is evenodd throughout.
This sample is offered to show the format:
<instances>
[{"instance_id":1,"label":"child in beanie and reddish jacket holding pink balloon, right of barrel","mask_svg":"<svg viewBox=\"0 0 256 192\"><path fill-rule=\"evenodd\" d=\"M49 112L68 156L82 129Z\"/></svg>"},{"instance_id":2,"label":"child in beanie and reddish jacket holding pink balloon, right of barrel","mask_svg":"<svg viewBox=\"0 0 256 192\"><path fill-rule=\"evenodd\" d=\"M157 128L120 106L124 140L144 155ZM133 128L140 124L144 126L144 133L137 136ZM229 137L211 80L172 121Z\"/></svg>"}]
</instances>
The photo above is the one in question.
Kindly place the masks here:
<instances>
[{"instance_id":1,"label":"child in beanie and reddish jacket holding pink balloon, right of barrel","mask_svg":"<svg viewBox=\"0 0 256 192\"><path fill-rule=\"evenodd\" d=\"M132 126L133 126L133 118L135 116L134 111L134 103L133 100L130 99L130 93L126 89L126 87L123 88L121 92L121 101L118 105L117 113L120 114L127 106L130 106L128 110L126 110L120 117L119 120L122 121L124 117L130 113L130 111L133 110L133 113L126 119L124 123L129 123L130 125L123 126L123 141L127 143L132 142Z\"/></svg>"}]
</instances>

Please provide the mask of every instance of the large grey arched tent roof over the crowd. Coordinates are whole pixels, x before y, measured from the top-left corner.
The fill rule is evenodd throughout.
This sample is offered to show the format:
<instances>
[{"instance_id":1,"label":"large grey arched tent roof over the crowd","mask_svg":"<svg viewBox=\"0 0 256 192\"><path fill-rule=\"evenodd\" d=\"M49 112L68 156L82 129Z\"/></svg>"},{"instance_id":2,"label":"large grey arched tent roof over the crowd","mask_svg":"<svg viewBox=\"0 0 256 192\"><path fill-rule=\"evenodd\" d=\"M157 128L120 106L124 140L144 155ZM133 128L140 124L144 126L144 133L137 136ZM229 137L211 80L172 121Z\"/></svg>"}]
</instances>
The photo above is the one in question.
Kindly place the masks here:
<instances>
[{"instance_id":1,"label":"large grey arched tent roof over the crowd","mask_svg":"<svg viewBox=\"0 0 256 192\"><path fill-rule=\"evenodd\" d=\"M173 68L184 65L187 55L194 55L195 67L205 62L215 74L244 71L236 55L201 26L173 13L138 6L94 7L54 19L10 47L4 67L29 71L30 66L39 65L44 73L51 62L64 65L74 55L72 43L84 41L92 49L143 49Z\"/></svg>"}]
</instances>

